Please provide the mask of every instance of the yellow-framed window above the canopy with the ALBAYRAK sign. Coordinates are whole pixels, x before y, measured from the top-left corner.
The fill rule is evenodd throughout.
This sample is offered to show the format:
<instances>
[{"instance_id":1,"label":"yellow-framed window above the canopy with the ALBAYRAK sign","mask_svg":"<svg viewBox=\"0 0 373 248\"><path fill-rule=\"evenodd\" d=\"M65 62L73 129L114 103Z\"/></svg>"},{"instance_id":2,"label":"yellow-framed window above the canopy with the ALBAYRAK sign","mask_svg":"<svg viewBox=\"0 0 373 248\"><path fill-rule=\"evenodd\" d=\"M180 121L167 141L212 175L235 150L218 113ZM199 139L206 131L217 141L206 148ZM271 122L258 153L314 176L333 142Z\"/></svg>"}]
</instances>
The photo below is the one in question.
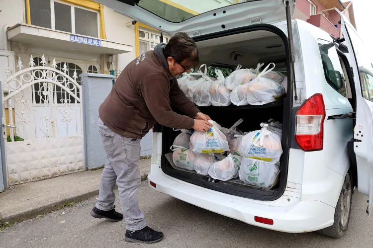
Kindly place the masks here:
<instances>
[{"instance_id":1,"label":"yellow-framed window above the canopy with the ALBAYRAK sign","mask_svg":"<svg viewBox=\"0 0 373 248\"><path fill-rule=\"evenodd\" d=\"M103 5L91 0L25 0L26 23L106 39Z\"/></svg>"}]
</instances>

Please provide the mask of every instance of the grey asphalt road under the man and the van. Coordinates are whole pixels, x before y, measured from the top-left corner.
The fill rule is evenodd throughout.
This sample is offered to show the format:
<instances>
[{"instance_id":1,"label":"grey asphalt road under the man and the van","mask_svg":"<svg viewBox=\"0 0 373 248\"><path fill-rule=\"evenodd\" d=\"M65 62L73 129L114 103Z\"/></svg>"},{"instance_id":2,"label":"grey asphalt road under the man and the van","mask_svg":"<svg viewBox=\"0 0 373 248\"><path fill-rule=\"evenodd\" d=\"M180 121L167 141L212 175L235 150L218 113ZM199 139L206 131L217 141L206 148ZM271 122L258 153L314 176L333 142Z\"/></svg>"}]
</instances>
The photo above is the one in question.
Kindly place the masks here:
<instances>
[{"instance_id":1,"label":"grey asphalt road under the man and the van","mask_svg":"<svg viewBox=\"0 0 373 248\"><path fill-rule=\"evenodd\" d=\"M287 234L247 225L158 193L142 183L140 208L165 238L154 245L124 241L124 221L94 219L95 197L0 232L0 248L372 248L373 218L367 198L355 193L350 227L342 239L317 233ZM118 198L117 198L118 200ZM121 211L116 201L117 211Z\"/></svg>"}]
</instances>

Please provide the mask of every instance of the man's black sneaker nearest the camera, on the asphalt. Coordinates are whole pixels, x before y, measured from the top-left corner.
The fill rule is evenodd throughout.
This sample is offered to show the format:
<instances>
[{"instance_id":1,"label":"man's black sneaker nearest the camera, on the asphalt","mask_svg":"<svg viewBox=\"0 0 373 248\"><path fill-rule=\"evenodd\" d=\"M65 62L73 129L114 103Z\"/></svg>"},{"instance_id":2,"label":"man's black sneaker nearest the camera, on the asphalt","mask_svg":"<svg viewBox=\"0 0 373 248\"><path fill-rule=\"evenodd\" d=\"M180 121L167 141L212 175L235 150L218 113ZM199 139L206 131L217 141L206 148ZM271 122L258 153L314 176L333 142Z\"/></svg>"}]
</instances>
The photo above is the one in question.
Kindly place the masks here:
<instances>
[{"instance_id":1,"label":"man's black sneaker nearest the camera, on the asphalt","mask_svg":"<svg viewBox=\"0 0 373 248\"><path fill-rule=\"evenodd\" d=\"M157 232L150 227L144 227L138 231L126 231L126 237L124 238L127 242L140 242L146 244L154 244L160 242L163 239L163 233Z\"/></svg>"}]
</instances>

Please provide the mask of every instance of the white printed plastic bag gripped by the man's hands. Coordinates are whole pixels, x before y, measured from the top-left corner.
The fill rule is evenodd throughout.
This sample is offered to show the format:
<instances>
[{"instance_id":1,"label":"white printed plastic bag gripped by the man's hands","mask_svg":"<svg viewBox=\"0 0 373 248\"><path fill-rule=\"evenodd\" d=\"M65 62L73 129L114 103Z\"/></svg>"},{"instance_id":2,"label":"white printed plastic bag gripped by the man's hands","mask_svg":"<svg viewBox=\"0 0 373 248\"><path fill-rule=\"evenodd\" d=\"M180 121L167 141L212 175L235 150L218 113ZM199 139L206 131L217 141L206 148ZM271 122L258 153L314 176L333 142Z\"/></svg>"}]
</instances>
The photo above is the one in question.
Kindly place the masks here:
<instances>
[{"instance_id":1,"label":"white printed plastic bag gripped by the man's hands","mask_svg":"<svg viewBox=\"0 0 373 248\"><path fill-rule=\"evenodd\" d=\"M190 137L194 153L223 153L229 151L228 141L216 122L209 120L213 127L204 133L194 131Z\"/></svg>"}]
</instances>

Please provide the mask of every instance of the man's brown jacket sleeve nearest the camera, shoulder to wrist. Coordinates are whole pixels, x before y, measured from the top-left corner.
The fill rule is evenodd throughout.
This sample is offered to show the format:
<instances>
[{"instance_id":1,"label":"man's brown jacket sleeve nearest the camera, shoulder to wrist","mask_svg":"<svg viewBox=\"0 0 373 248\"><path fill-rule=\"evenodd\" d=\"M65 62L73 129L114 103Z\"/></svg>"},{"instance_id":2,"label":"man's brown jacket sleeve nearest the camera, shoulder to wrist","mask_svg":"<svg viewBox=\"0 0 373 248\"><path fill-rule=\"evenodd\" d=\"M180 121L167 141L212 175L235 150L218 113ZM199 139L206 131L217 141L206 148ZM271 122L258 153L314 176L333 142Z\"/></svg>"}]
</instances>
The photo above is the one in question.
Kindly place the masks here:
<instances>
[{"instance_id":1,"label":"man's brown jacket sleeve nearest the camera, shoulder to wrist","mask_svg":"<svg viewBox=\"0 0 373 248\"><path fill-rule=\"evenodd\" d=\"M166 127L191 129L194 120L172 111L170 107L170 81L160 74L149 74L139 84L139 92L156 121Z\"/></svg>"}]
</instances>

